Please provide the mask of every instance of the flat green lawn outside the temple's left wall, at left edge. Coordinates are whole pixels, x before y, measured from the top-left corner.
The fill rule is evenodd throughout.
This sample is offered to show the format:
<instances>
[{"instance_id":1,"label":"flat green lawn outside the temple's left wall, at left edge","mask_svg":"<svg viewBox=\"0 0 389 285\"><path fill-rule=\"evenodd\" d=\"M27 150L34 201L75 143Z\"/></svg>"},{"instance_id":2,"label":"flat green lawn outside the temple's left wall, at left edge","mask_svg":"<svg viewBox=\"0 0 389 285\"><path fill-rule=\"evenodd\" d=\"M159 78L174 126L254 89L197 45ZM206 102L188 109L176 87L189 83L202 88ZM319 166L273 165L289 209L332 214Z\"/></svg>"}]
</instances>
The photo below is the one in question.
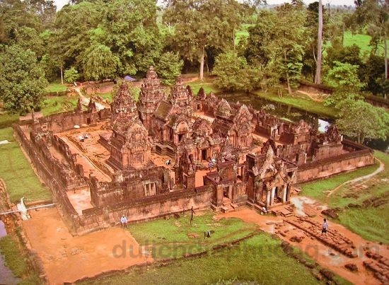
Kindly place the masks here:
<instances>
[{"instance_id":1,"label":"flat green lawn outside the temple's left wall, at left edge","mask_svg":"<svg viewBox=\"0 0 389 285\"><path fill-rule=\"evenodd\" d=\"M0 129L0 141L11 141L0 145L0 178L6 182L11 202L18 202L21 197L28 200L50 198L50 190L42 186L12 134L11 127Z\"/></svg>"}]
</instances>

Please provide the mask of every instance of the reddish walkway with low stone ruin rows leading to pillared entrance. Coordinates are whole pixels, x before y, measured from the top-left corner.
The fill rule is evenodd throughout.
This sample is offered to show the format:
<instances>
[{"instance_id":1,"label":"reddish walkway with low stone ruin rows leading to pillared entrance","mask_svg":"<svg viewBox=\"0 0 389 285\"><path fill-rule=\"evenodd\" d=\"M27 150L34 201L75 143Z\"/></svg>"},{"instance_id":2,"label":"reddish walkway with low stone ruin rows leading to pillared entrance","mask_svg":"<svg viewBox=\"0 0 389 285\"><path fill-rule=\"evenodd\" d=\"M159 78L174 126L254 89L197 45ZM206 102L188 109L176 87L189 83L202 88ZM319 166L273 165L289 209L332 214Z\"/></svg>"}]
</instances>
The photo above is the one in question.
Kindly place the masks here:
<instances>
[{"instance_id":1,"label":"reddish walkway with low stone ruin rows leading to pillared entrance","mask_svg":"<svg viewBox=\"0 0 389 285\"><path fill-rule=\"evenodd\" d=\"M300 198L300 197L298 197ZM304 197L302 197L301 203ZM381 284L374 278L373 273L364 267L364 262L370 262L373 267L385 267L376 260L366 256L368 249L373 253L382 255L382 262L389 259L389 248L386 245L379 245L364 240L356 233L349 231L337 223L330 223L329 233L326 237L321 235L321 223L323 216L320 214L323 207L318 204L309 207L314 209L316 216L313 218L296 216L281 217L271 215L260 215L257 211L243 207L239 211L231 211L227 214L219 214L219 218L235 217L248 223L256 223L264 231L274 233L282 240L301 248L322 267L332 270L339 276L352 281L354 284ZM332 235L334 235L332 237ZM335 238L334 238L335 237ZM354 257L352 257L354 256ZM351 272L344 267L345 264L356 264L358 272ZM386 267L385 267L386 268ZM389 267L388 267L389 268ZM382 269L384 272L384 269Z\"/></svg>"}]
</instances>

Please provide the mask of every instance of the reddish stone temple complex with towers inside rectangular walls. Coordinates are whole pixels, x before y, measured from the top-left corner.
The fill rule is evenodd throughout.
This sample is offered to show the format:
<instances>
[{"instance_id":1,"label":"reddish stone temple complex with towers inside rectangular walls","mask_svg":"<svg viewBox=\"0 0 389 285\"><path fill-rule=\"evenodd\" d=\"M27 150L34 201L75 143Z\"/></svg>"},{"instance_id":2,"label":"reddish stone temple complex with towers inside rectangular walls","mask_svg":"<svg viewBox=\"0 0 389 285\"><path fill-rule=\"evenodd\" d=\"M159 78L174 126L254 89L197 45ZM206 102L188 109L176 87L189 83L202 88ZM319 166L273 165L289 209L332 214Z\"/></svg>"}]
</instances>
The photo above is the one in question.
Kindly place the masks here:
<instances>
[{"instance_id":1,"label":"reddish stone temple complex with towers inside rectangular walls","mask_svg":"<svg viewBox=\"0 0 389 285\"><path fill-rule=\"evenodd\" d=\"M84 110L85 109L85 110ZM269 210L292 186L373 163L370 149L200 89L164 92L151 67L136 102L126 84L110 108L91 100L15 125L37 173L76 233L211 207Z\"/></svg>"}]
</instances>

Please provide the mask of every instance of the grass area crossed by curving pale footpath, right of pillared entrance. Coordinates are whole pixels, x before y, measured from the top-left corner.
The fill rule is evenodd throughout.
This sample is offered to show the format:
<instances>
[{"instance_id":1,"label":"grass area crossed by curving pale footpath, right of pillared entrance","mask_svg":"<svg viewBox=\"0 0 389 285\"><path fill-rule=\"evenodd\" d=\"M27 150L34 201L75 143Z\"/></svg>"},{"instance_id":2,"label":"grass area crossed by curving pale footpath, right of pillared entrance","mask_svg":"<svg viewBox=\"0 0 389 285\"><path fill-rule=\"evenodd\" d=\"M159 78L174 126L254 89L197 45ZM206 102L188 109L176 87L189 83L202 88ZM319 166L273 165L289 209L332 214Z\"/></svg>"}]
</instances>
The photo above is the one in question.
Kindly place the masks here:
<instances>
[{"instance_id":1,"label":"grass area crossed by curving pale footpath, right of pillared entrance","mask_svg":"<svg viewBox=\"0 0 389 285\"><path fill-rule=\"evenodd\" d=\"M385 170L370 180L356 183L361 187L344 185L329 199L325 193L325 191L332 190L347 180L372 173L378 164L302 185L302 194L322 203L327 202L330 208L341 208L342 211L339 212L337 222L342 223L354 233L367 240L389 244L389 155L375 151L374 156L383 161ZM364 204L366 200L374 198L381 201L376 207ZM361 208L348 207L350 203L359 205Z\"/></svg>"}]
</instances>

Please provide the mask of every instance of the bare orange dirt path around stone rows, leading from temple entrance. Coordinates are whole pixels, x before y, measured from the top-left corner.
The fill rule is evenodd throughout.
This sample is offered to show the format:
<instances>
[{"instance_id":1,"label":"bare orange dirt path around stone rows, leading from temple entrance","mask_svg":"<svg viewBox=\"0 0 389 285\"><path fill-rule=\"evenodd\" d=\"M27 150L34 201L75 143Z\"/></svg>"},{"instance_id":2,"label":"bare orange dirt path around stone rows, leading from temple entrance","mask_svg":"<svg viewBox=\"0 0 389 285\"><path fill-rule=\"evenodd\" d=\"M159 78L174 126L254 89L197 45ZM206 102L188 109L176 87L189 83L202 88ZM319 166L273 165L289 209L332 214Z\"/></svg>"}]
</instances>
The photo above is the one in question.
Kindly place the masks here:
<instances>
[{"instance_id":1,"label":"bare orange dirt path around stone rows, leading from temple entrance","mask_svg":"<svg viewBox=\"0 0 389 285\"><path fill-rule=\"evenodd\" d=\"M304 204L303 202L301 202ZM323 216L320 215L321 207L312 207L310 206L310 211L315 209L316 216L314 218L304 218L308 219L311 223L318 223L321 225L323 222ZM339 274L339 276L352 281L354 284L380 284L375 277L373 277L373 273L366 270L363 262L366 260L371 260L366 257L364 248L371 248L371 250L375 250L379 252L380 255L383 255L386 258L389 258L389 249L387 245L378 245L376 243L368 242L364 240L359 235L352 233L344 226L341 226L337 223L330 223L329 232L336 233L338 236L342 236L346 240L350 240L352 242L352 246L355 247L354 252L358 255L356 258L348 257L337 250L331 248L330 246L325 244L326 237L323 236L323 240L318 240L315 236L319 235L320 237L320 229L312 226L310 229L306 231L301 228L297 228L292 222L298 219L296 216L291 217L281 217L281 216L271 216L271 215L260 215L257 211L252 209L248 209L243 207L239 211L231 211L227 214L219 214L219 218L226 217L235 217L240 218L248 223L256 223L263 230L268 233L277 234L282 240L286 240L292 245L301 248L304 252L306 252L310 257L312 257L318 264L322 267L328 268ZM303 228L303 226L302 226ZM311 232L310 232L311 231ZM300 243L296 241L291 241L292 237L302 237ZM320 237L321 238L321 237ZM336 243L336 242L335 242ZM345 264L352 263L356 264L358 267L358 272L351 272L344 267Z\"/></svg>"}]
</instances>

